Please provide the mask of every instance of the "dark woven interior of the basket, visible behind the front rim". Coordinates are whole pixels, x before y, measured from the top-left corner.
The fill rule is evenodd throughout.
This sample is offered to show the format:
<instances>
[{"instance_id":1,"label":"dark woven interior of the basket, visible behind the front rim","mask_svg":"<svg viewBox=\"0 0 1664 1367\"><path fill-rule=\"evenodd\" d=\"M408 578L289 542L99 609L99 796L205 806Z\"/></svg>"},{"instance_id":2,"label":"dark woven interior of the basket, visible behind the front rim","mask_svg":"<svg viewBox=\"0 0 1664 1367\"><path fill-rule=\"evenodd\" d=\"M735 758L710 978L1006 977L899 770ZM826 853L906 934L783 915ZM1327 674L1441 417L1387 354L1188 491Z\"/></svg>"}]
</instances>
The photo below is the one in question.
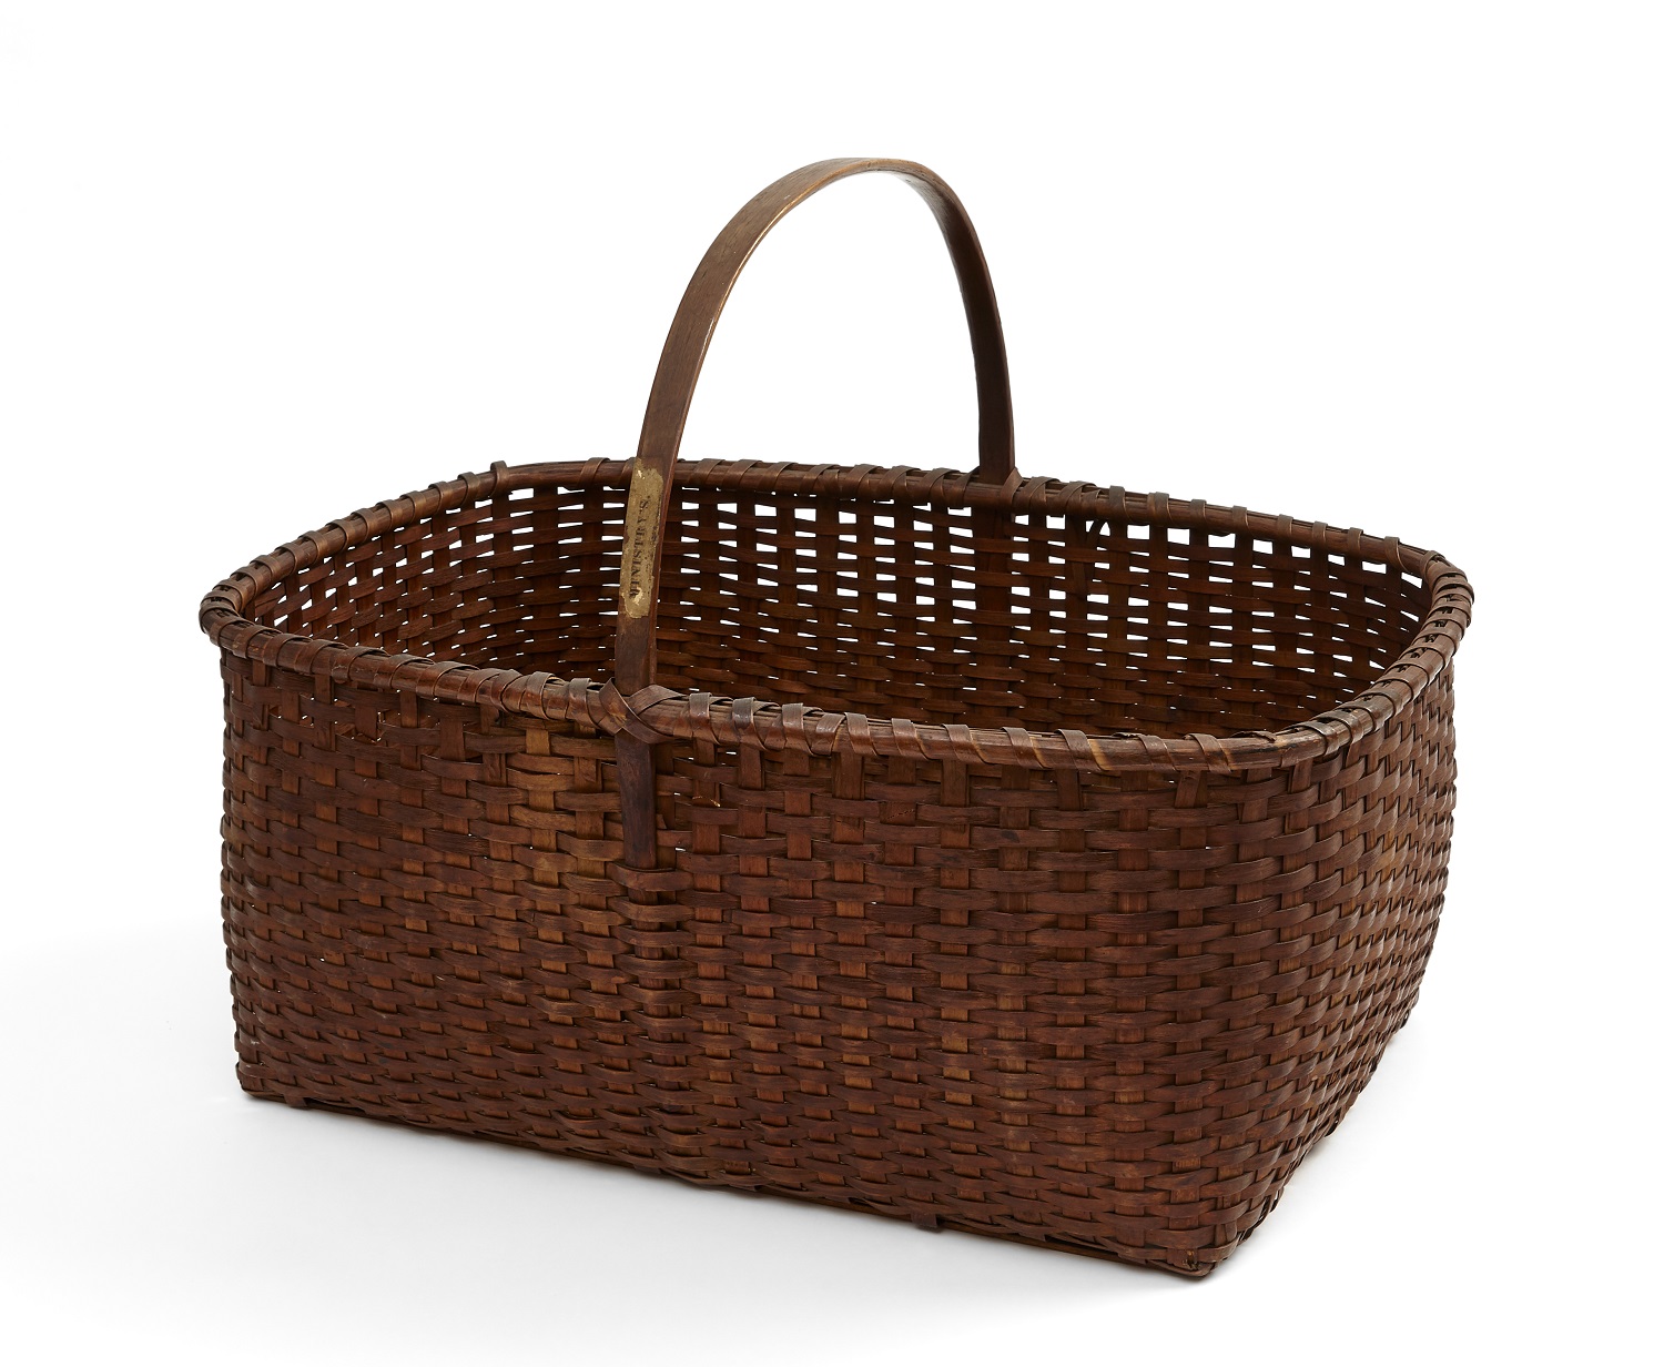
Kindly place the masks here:
<instances>
[{"instance_id":1,"label":"dark woven interior of the basket, visible behind the front rim","mask_svg":"<svg viewBox=\"0 0 1664 1367\"><path fill-rule=\"evenodd\" d=\"M606 679L626 485L567 470L326 556L251 616ZM1366 688L1429 608L1388 564L1205 524L677 478L659 598L671 688L920 723L1231 734Z\"/></svg>"}]
</instances>

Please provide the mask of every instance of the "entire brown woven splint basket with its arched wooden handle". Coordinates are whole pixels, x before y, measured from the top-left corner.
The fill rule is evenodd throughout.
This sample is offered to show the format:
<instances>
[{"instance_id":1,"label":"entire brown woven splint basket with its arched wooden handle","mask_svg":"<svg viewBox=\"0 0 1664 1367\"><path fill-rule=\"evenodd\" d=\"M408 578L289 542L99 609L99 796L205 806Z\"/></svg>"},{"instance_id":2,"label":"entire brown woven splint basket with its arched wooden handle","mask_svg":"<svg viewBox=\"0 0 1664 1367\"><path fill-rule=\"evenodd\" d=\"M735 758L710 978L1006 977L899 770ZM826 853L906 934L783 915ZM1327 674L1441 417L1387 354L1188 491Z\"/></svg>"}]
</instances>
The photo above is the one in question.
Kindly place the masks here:
<instances>
[{"instance_id":1,"label":"entire brown woven splint basket with its arched wooden handle","mask_svg":"<svg viewBox=\"0 0 1664 1367\"><path fill-rule=\"evenodd\" d=\"M739 270L860 171L947 238L977 471L677 468ZM701 263L634 461L464 475L203 601L238 1076L1208 1272L1416 999L1469 606L1393 538L1018 480L952 190L805 167Z\"/></svg>"}]
</instances>

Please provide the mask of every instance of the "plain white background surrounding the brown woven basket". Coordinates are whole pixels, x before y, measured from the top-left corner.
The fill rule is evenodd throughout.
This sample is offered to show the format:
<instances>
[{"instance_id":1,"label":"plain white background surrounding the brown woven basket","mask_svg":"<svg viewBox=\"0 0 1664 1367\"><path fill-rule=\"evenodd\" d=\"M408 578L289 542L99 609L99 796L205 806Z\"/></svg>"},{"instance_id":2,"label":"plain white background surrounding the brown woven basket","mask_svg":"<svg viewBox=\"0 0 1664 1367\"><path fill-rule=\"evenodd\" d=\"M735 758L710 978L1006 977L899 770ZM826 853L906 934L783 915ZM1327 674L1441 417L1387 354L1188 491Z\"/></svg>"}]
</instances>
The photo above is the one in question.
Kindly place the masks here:
<instances>
[{"instance_id":1,"label":"plain white background surrounding the brown woven basket","mask_svg":"<svg viewBox=\"0 0 1664 1367\"><path fill-rule=\"evenodd\" d=\"M0 5L0 1347L35 1362L1634 1362L1659 1169L1651 5ZM755 190L925 162L1027 473L1471 574L1421 1006L1200 1284L245 1099L198 598L627 456ZM689 456L965 465L909 190L795 213Z\"/></svg>"}]
</instances>

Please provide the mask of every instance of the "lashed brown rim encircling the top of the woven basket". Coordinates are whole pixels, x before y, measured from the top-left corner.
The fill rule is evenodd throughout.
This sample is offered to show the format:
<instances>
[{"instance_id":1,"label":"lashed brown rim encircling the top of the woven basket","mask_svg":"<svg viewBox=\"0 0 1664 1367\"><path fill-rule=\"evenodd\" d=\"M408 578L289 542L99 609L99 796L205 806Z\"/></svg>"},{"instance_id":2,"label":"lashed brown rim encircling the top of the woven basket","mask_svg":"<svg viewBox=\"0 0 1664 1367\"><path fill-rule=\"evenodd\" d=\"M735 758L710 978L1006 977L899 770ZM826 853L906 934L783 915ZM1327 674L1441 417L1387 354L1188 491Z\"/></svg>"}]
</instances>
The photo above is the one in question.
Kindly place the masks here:
<instances>
[{"instance_id":1,"label":"lashed brown rim encircling the top of the woven basket","mask_svg":"<svg viewBox=\"0 0 1664 1367\"><path fill-rule=\"evenodd\" d=\"M1473 586L1438 551L1403 544L1396 536L1366 536L1321 521L1225 508L1205 500L1170 500L1165 493L1128 493L1087 481L1063 483L1030 476L1005 486L977 485L963 471L912 466L834 466L792 461L684 461L676 483L732 488L735 493L824 493L867 500L935 503L948 508L1002 508L1017 513L1097 513L1127 523L1161 523L1208 533L1250 533L1308 546L1313 553L1345 553L1381 561L1419 576L1431 601L1416 636L1368 688L1345 703L1278 731L1215 736L1191 733L1163 738L1142 731L1085 734L1027 731L1018 726L973 728L915 723L907 718L867 718L802 703L721 698L664 686L622 696L611 681L562 679L416 654L389 654L374 646L349 646L321 636L301 636L261 626L246 609L280 579L326 556L408 526L434 513L484 498L544 485L627 485L634 461L547 461L459 475L424 490L361 508L256 556L226 576L201 601L198 623L230 654L271 668L328 676L336 684L409 691L443 703L493 708L541 721L582 721L616 734L629 731L654 744L709 741L721 746L757 744L764 749L807 749L814 754L895 754L912 759L955 759L1030 769L1097 769L1103 773L1206 769L1236 774L1286 769L1323 759L1384 726L1414 703L1449 668L1473 614Z\"/></svg>"}]
</instances>

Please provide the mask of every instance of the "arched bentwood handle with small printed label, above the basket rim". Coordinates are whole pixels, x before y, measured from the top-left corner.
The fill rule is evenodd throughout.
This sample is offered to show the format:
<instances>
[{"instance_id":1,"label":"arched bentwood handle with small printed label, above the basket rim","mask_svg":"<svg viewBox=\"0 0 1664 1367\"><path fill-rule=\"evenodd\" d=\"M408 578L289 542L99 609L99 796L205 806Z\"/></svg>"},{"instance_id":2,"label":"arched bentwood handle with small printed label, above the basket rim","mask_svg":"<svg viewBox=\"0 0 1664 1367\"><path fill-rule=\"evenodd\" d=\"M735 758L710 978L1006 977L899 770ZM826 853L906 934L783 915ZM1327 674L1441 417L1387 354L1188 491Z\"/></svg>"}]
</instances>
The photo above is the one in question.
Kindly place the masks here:
<instances>
[{"instance_id":1,"label":"arched bentwood handle with small printed label, above the basket rim","mask_svg":"<svg viewBox=\"0 0 1664 1367\"><path fill-rule=\"evenodd\" d=\"M647 688L654 674L654 636L659 613L659 561L664 546L666 498L676 453L682 445L682 428L694 401L694 386L706 363L711 335L722 306L769 230L797 205L835 180L865 171L889 171L905 180L935 215L947 240L958 291L965 300L970 325L970 350L977 363L977 405L980 410L978 465L975 480L1003 485L1015 461L1012 455L1012 393L1005 368L1005 336L1000 331L1000 308L993 300L993 281L982 258L977 230L947 183L915 162L842 157L815 162L774 181L757 195L711 243L699 270L687 283L671 335L664 340L659 371L652 378L647 416L641 425L641 445L631 475L629 501L624 511L624 564L619 583L617 688L627 696Z\"/></svg>"}]
</instances>

